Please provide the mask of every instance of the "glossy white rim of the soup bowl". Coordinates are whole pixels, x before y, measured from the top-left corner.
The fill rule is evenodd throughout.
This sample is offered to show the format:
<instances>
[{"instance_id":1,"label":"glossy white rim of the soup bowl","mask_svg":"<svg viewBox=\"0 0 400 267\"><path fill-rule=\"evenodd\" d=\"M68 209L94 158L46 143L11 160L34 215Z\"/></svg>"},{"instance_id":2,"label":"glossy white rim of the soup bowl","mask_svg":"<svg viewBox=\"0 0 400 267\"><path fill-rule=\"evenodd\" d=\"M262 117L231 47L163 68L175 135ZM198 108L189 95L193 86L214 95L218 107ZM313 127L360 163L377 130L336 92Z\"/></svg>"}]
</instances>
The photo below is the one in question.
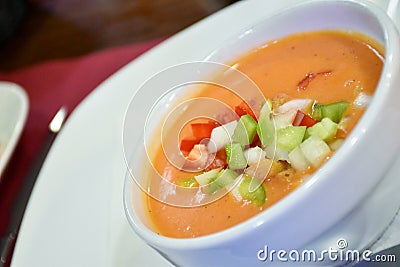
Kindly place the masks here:
<instances>
[{"instance_id":1,"label":"glossy white rim of the soup bowl","mask_svg":"<svg viewBox=\"0 0 400 267\"><path fill-rule=\"evenodd\" d=\"M379 18L379 26L384 35L384 47L385 47L385 63L381 72L381 76L379 82L376 87L376 93L374 94L372 101L365 111L365 113L360 118L359 122L350 133L350 135L346 138L346 141L342 145L342 147L335 152L335 155L323 166L321 166L318 170L316 170L310 178L307 179L301 186L299 186L296 190L286 195L283 199L278 201L276 204L272 205L268 209L263 212L237 224L232 227L226 228L216 233L208 234L205 236L194 237L194 238L173 238L158 235L152 230L148 229L140 219L136 218L134 215L134 211L132 208L132 198L131 191L132 189L128 186L133 182L130 178L129 170L126 172L125 183L124 183L124 210L126 217L128 218L128 222L134 231L141 236L147 243L155 244L157 247L164 247L168 249L179 249L179 250L192 250L192 249L203 249L210 248L213 246L218 246L220 244L224 244L232 241L238 236L246 235L251 229L254 229L254 226L259 226L260 224L265 223L265 218L268 218L269 223L271 221L279 220L282 214L285 214L290 207L296 206L296 202L304 201L304 199L309 194L309 190L311 188L317 188L318 185L323 183L327 178L329 178L329 174L335 172L335 168L339 165L343 165L345 159L350 157L354 152L352 149L352 141L356 141L358 143L364 143L365 137L362 135L362 131L365 128L368 128L373 124L374 117L378 116L379 110L381 110L384 105L385 99L388 96L388 84L393 79L393 75L387 75L390 69L393 68L394 64L397 64L394 61L392 51L398 51L398 49L394 49L400 46L395 42L392 42L389 36L399 35L396 27L394 26L392 20L387 16L387 14L381 10L378 6L371 3L367 0L308 0L307 2L297 3L291 7L284 8L279 10L279 12L275 12L273 15L264 17L256 24L247 28L247 30L257 27L259 24L263 23L265 20L275 19L278 16L285 16L289 12L297 11L301 8L307 8L309 5L321 5L326 3L332 4L344 4L344 5L353 5L354 7L360 8L366 11L370 16ZM240 35L244 31L239 33L235 33L232 35L228 41L231 41L237 36ZM213 51L209 53L212 55L215 51L219 50L221 47L217 47ZM389 52L390 51L390 52ZM390 53L388 55L388 53ZM209 59L209 56L206 57L206 60ZM398 65L398 64L397 64ZM377 94L379 92L379 94ZM381 180L382 177L379 177L378 180ZM351 207L353 208L353 207ZM350 208L349 208L350 209ZM272 220L271 220L272 218Z\"/></svg>"}]
</instances>

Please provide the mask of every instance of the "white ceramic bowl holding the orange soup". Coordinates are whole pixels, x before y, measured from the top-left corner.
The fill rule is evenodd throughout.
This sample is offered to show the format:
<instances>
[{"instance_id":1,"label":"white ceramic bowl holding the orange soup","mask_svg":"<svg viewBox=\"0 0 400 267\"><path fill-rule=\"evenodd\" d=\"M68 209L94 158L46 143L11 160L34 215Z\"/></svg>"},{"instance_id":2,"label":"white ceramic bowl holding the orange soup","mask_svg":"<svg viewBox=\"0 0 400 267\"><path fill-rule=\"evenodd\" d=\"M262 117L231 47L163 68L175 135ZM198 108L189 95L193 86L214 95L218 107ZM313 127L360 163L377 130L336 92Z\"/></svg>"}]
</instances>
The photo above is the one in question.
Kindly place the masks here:
<instances>
[{"instance_id":1,"label":"white ceramic bowl holding the orange soup","mask_svg":"<svg viewBox=\"0 0 400 267\"><path fill-rule=\"evenodd\" d=\"M347 242L346 249L362 250L379 237L394 217L400 206L400 180L395 175L400 171L400 39L384 11L364 1L309 1L238 33L208 59L226 62L270 39L320 29L354 30L374 37L386 49L385 64L376 93L356 128L334 157L293 193L227 230L174 239L152 231L144 213L143 192L127 173L124 205L129 223L173 264L265 265L271 262L257 257L265 246L287 252L305 248L321 251L338 249L341 238ZM300 263L304 264L311 263Z\"/></svg>"}]
</instances>

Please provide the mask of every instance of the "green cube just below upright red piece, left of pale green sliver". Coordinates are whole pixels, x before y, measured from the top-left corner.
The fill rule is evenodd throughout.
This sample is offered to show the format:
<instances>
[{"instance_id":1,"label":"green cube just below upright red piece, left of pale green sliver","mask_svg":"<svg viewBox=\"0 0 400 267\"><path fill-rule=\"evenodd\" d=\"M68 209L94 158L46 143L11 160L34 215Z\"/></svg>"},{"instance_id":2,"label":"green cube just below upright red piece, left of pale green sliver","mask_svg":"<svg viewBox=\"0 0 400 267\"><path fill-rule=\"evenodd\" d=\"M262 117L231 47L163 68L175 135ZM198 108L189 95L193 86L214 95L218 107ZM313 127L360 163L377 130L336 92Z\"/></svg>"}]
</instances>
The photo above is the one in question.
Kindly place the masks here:
<instances>
[{"instance_id":1,"label":"green cube just below upright red piece, left of pale green sliver","mask_svg":"<svg viewBox=\"0 0 400 267\"><path fill-rule=\"evenodd\" d=\"M235 131L233 132L232 140L235 143L241 144L243 147L253 142L254 135L257 131L257 122L249 114L240 117Z\"/></svg>"}]
</instances>

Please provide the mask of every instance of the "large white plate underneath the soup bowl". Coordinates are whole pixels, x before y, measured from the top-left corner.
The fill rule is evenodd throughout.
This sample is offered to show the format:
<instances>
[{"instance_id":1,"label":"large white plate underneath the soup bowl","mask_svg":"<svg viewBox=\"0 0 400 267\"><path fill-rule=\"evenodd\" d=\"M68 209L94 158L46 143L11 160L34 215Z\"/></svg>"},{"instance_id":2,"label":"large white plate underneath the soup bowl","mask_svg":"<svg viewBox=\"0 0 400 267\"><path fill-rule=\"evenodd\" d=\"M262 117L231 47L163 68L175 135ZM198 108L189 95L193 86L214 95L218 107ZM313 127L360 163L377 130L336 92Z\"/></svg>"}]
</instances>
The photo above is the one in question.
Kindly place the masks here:
<instances>
[{"instance_id":1,"label":"large white plate underneath the soup bowl","mask_svg":"<svg viewBox=\"0 0 400 267\"><path fill-rule=\"evenodd\" d=\"M168 266L131 231L122 192L122 121L134 91L174 64L201 60L301 0L241 1L175 35L101 84L71 114L37 180L13 266ZM375 1L378 2L378 1ZM379 1L386 8L387 1Z\"/></svg>"}]
</instances>

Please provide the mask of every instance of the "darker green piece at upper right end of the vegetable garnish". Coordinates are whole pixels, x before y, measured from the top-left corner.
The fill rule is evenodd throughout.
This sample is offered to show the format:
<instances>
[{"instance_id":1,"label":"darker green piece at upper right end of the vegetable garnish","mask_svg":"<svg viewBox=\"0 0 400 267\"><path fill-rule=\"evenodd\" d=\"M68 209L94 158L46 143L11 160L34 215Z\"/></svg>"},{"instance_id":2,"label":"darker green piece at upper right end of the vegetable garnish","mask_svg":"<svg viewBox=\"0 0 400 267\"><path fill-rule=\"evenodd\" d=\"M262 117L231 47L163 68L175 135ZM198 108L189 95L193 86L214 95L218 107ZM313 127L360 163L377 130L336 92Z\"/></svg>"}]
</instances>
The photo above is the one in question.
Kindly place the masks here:
<instances>
[{"instance_id":1,"label":"darker green piece at upper right end of the vegetable garnish","mask_svg":"<svg viewBox=\"0 0 400 267\"><path fill-rule=\"evenodd\" d=\"M311 116L316 120L330 118L333 122L338 123L348 106L349 102L346 101L339 101L327 105L315 104Z\"/></svg>"}]
</instances>

